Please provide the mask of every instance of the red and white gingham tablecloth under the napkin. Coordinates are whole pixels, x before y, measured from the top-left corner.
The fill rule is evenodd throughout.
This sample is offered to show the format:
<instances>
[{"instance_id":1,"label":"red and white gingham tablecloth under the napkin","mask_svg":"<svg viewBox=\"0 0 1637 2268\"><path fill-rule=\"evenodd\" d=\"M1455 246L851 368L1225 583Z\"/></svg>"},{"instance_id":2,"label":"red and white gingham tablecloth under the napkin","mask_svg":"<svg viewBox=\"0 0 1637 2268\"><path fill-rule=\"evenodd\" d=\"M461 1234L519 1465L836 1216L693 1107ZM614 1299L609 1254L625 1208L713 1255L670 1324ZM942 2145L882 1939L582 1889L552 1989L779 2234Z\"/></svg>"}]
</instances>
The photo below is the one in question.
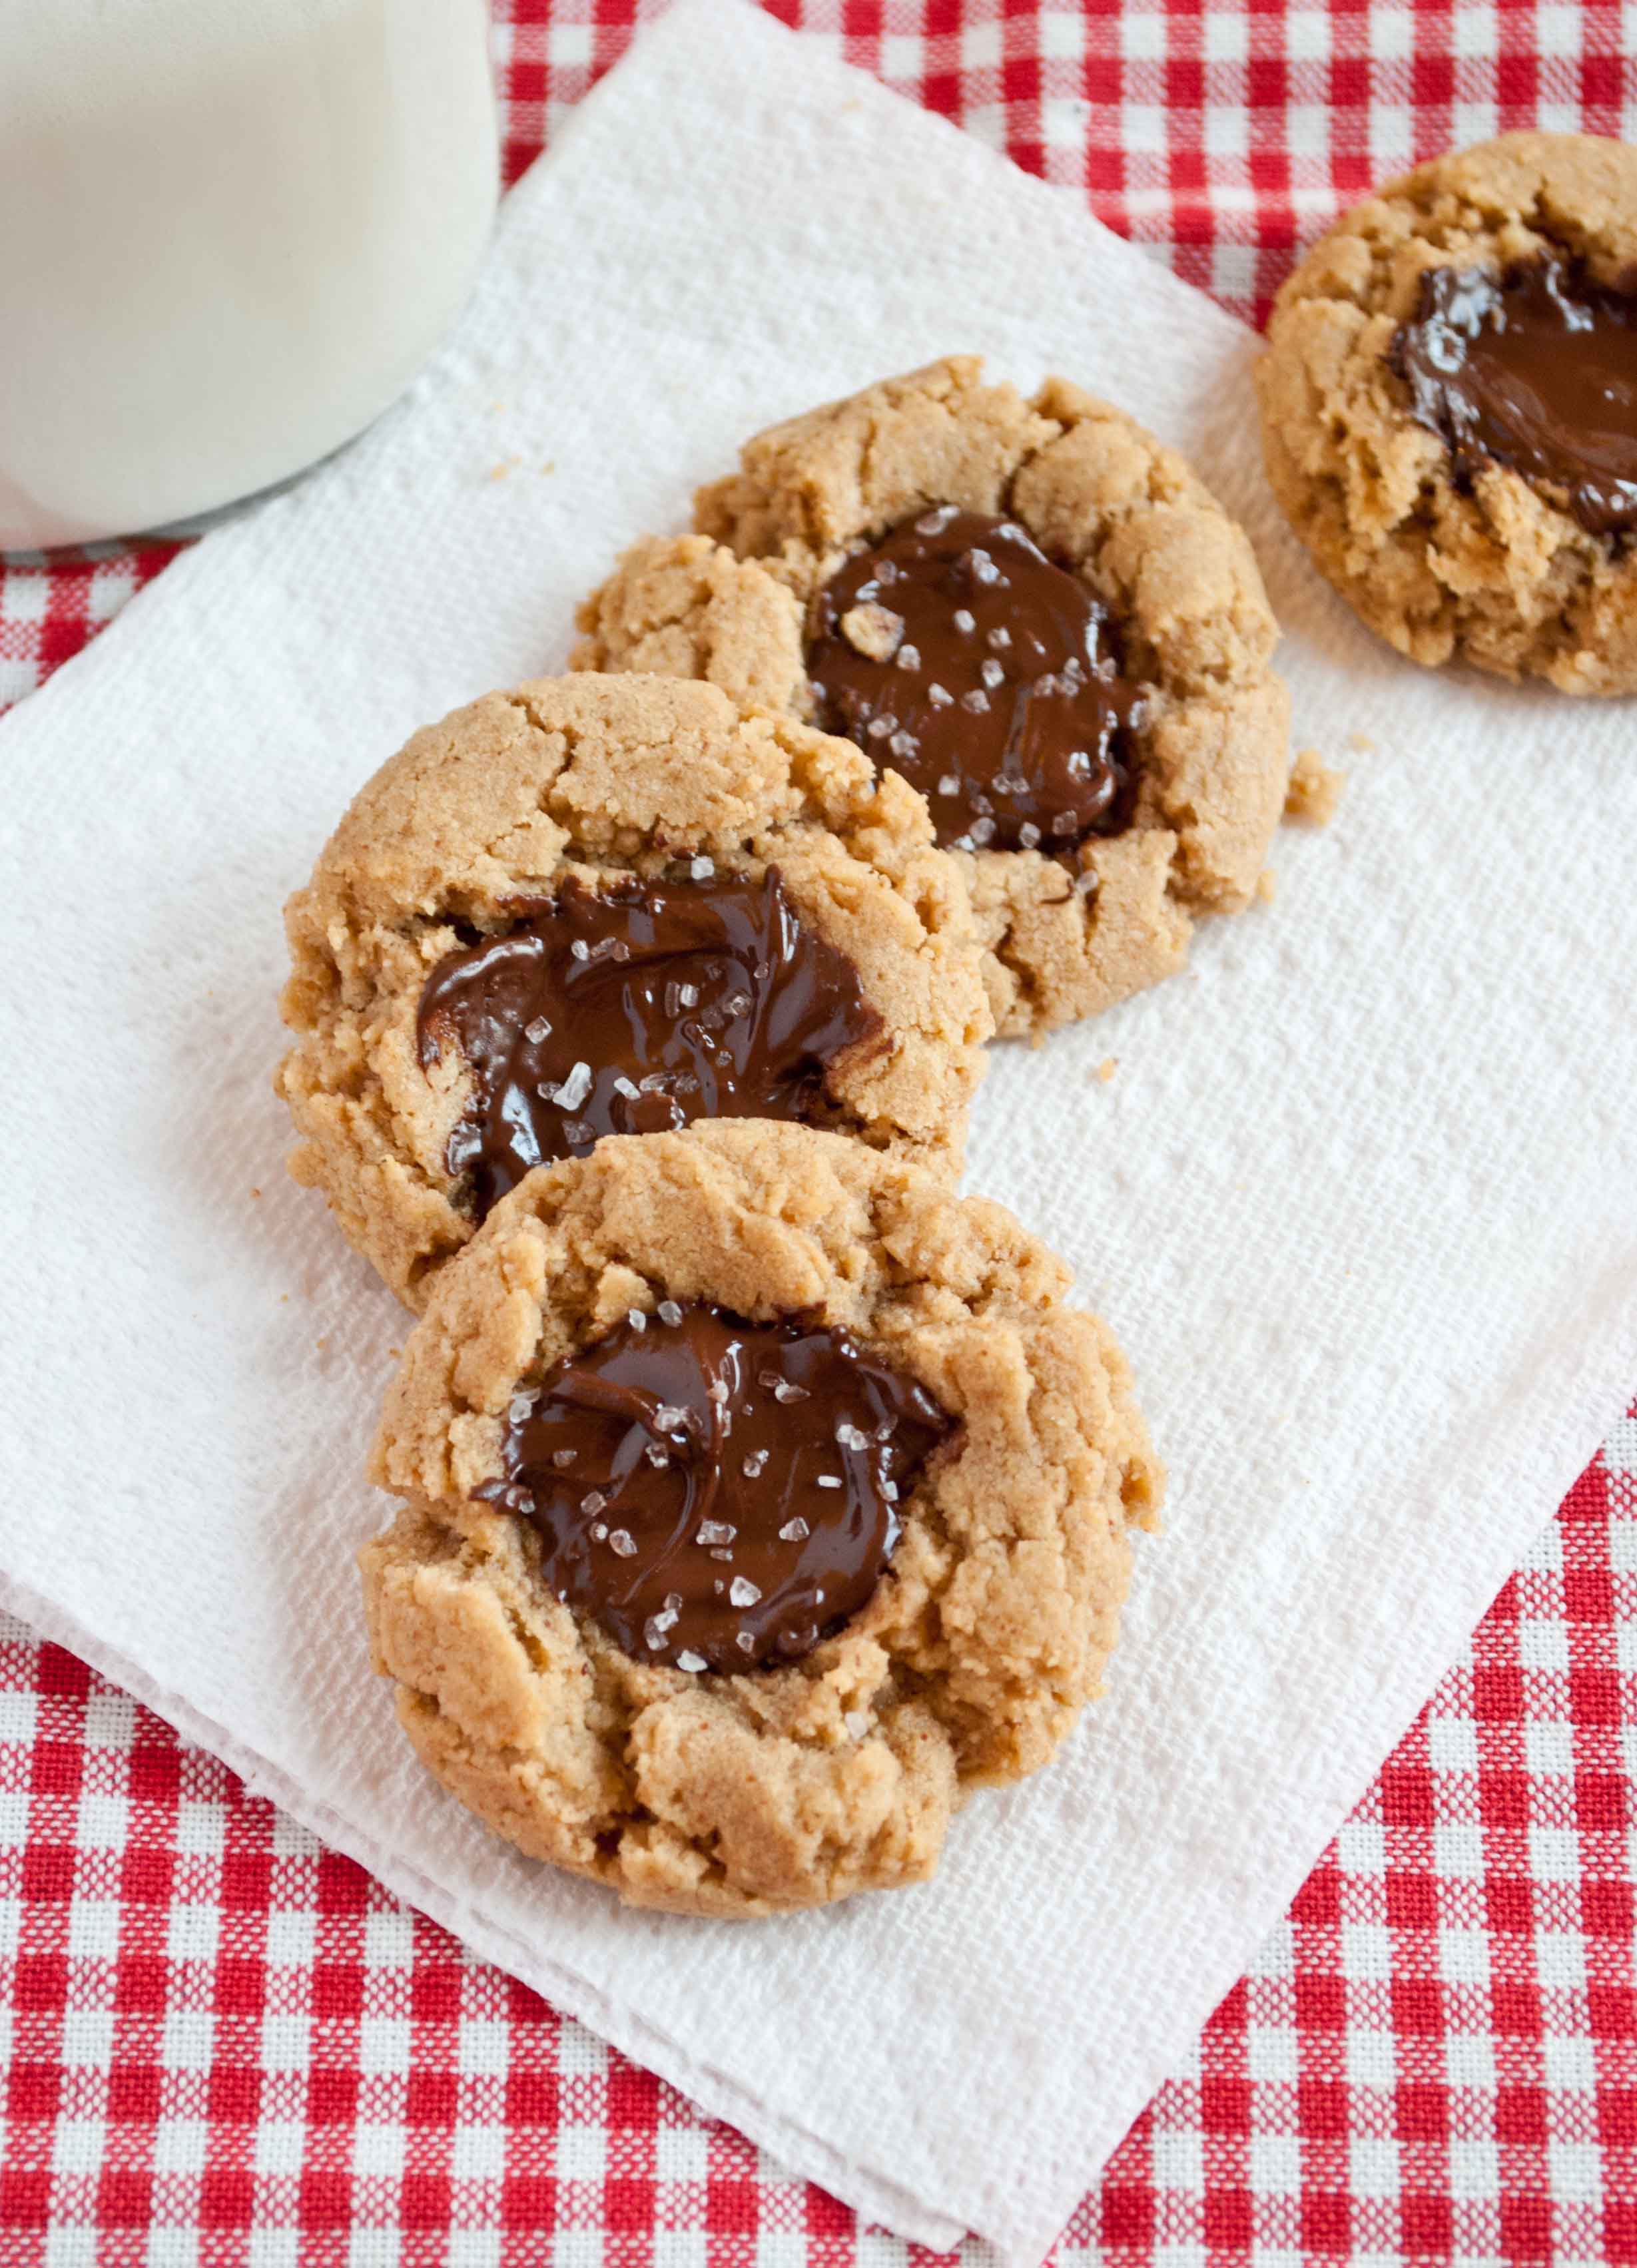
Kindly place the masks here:
<instances>
[{"instance_id":1,"label":"red and white gingham tablecloth under the napkin","mask_svg":"<svg viewBox=\"0 0 1637 2268\"><path fill-rule=\"evenodd\" d=\"M499 0L508 177L642 14ZM775 14L1249 318L1292 245L1401 163L1505 127L1637 127L1630 7ZM0 703L168 556L5 569ZM1637 1413L1054 2261L1637 2261L1635 1776ZM916 2250L5 1619L0 2025L0 2268L896 2268Z\"/></svg>"}]
</instances>

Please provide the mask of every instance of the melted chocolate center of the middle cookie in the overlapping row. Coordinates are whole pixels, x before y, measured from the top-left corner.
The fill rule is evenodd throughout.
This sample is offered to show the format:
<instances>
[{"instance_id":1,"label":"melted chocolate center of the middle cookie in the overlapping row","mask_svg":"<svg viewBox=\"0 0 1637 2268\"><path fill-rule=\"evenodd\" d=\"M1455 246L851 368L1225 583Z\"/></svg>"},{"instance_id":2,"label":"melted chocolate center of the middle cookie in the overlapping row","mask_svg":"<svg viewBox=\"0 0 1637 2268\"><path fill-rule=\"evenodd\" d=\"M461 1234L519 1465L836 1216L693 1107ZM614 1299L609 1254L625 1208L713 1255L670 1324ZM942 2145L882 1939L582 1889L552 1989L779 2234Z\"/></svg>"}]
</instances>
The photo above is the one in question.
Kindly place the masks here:
<instances>
[{"instance_id":1,"label":"melted chocolate center of the middle cookie in the overlapping row","mask_svg":"<svg viewBox=\"0 0 1637 2268\"><path fill-rule=\"evenodd\" d=\"M472 1064L447 1161L472 1177L478 1220L531 1166L603 1134L823 1116L825 1064L880 1032L857 968L803 925L773 866L760 882L569 880L517 914L447 953L419 1000L422 1064L451 1039Z\"/></svg>"}]
</instances>

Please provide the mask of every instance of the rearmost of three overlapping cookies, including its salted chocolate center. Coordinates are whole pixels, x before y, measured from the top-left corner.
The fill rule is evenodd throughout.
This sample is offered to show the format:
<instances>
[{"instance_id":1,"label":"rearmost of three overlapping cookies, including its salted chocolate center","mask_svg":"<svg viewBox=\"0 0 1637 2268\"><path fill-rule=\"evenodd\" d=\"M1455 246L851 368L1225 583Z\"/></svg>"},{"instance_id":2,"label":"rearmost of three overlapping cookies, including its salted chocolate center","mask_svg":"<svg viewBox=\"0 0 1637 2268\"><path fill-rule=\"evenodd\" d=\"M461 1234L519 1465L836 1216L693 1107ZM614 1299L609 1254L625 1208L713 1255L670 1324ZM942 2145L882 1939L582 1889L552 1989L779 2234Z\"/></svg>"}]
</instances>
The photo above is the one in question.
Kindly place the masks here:
<instances>
[{"instance_id":1,"label":"rearmost of three overlapping cookies, including its salted chocolate center","mask_svg":"<svg viewBox=\"0 0 1637 2268\"><path fill-rule=\"evenodd\" d=\"M1245 907L1288 699L1245 533L1152 433L970 356L794 417L580 608L576 669L669 669L905 773L961 860L995 1025L1181 966Z\"/></svg>"}]
</instances>

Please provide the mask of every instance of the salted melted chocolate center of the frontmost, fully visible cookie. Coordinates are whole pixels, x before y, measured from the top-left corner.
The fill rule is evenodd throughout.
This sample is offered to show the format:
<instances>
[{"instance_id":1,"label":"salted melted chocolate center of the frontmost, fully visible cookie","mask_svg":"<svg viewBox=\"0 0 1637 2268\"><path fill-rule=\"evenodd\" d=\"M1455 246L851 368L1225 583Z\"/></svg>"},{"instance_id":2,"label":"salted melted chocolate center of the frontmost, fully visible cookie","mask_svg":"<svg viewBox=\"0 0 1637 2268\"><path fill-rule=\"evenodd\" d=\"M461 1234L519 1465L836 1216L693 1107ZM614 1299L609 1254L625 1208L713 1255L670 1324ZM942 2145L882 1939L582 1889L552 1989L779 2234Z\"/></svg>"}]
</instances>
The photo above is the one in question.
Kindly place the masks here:
<instances>
[{"instance_id":1,"label":"salted melted chocolate center of the frontmost, fully visible cookie","mask_svg":"<svg viewBox=\"0 0 1637 2268\"><path fill-rule=\"evenodd\" d=\"M542 1574L639 1662L794 1662L868 1601L952 1420L846 1331L662 1302L515 1395L503 1479Z\"/></svg>"}]
</instances>

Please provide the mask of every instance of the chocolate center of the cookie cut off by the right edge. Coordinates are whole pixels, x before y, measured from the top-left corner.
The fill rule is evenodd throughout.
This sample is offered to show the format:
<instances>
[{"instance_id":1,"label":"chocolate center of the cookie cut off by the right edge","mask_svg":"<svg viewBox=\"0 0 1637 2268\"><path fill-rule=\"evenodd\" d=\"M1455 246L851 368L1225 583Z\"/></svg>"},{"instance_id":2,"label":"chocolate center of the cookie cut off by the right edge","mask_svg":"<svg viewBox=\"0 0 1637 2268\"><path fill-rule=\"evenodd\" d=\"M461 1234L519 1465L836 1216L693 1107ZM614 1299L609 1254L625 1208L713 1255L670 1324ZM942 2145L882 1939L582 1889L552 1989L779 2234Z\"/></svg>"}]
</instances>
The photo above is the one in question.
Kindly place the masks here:
<instances>
[{"instance_id":1,"label":"chocolate center of the cookie cut off by the right edge","mask_svg":"<svg viewBox=\"0 0 1637 2268\"><path fill-rule=\"evenodd\" d=\"M1567 492L1594 535L1637 526L1637 295L1558 259L1428 268L1388 363L1469 485L1485 463Z\"/></svg>"}]
</instances>

